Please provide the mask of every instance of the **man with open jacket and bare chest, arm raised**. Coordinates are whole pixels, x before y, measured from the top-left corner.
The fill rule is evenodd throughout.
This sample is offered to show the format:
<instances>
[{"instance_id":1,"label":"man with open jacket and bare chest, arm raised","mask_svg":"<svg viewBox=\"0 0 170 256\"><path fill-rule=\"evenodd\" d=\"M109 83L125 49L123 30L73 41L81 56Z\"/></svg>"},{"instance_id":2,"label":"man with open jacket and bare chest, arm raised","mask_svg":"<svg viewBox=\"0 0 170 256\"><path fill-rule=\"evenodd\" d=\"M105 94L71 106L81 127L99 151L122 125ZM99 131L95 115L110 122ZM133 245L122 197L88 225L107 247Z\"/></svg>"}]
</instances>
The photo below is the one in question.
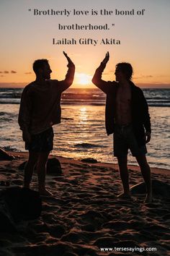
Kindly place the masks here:
<instances>
[{"instance_id":1,"label":"man with open jacket and bare chest, arm raised","mask_svg":"<svg viewBox=\"0 0 170 256\"><path fill-rule=\"evenodd\" d=\"M116 81L102 80L102 72L109 61L109 52L97 68L92 82L107 94L107 135L114 133L114 155L120 168L124 192L119 197L130 198L128 177L128 149L135 156L146 182L146 202L151 202L151 170L146 160L146 143L151 140L151 121L143 91L131 81L133 68L129 63L116 65Z\"/></svg>"}]
</instances>

